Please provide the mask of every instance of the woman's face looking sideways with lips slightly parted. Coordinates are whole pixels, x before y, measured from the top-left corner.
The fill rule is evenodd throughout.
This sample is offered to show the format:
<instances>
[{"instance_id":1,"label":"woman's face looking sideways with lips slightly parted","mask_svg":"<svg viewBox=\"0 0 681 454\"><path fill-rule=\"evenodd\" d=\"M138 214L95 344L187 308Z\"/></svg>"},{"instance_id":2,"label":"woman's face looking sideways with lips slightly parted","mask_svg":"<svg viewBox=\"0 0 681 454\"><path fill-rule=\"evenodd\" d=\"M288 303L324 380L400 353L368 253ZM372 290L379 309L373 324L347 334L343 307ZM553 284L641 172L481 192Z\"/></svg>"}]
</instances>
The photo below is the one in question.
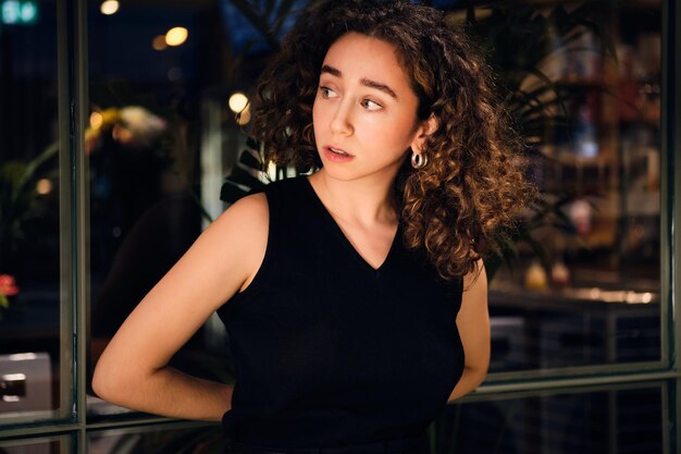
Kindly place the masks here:
<instances>
[{"instance_id":1,"label":"woman's face looking sideways with lips slightly parted","mask_svg":"<svg viewBox=\"0 0 681 454\"><path fill-rule=\"evenodd\" d=\"M358 33L324 58L312 109L317 149L330 176L392 181L424 122L393 45Z\"/></svg>"}]
</instances>

